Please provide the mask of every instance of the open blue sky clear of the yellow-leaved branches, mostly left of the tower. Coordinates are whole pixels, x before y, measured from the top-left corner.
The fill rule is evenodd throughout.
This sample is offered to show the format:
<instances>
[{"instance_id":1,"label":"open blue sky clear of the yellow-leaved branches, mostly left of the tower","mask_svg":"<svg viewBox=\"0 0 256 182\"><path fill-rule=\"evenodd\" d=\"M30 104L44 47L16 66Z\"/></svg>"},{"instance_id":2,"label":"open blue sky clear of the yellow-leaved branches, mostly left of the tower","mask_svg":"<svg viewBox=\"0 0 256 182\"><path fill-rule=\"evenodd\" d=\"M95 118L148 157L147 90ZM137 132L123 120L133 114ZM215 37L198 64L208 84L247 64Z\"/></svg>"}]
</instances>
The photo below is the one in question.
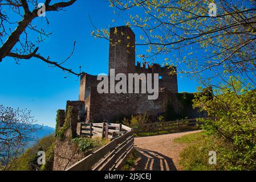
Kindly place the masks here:
<instances>
[{"instance_id":1,"label":"open blue sky clear of the yellow-leaved branches, mostly left of the tower","mask_svg":"<svg viewBox=\"0 0 256 182\"><path fill-rule=\"evenodd\" d=\"M122 16L112 23L112 19L116 19L112 11L108 1L79 0L65 11L47 12L49 26L41 18L35 22L52 32L50 38L40 44L39 52L50 56L52 61L61 62L70 55L76 41L74 55L64 66L76 72L81 66L82 71L91 75L108 73L108 42L91 36L94 27L88 17L99 28L124 25ZM66 76L60 69L49 68L38 59L21 60L20 64L4 59L0 63L0 105L27 108L39 124L54 127L56 110L64 109L67 100L78 100L79 79L72 75L64 78ZM197 85L187 77L178 76L179 92L195 92Z\"/></svg>"}]
</instances>

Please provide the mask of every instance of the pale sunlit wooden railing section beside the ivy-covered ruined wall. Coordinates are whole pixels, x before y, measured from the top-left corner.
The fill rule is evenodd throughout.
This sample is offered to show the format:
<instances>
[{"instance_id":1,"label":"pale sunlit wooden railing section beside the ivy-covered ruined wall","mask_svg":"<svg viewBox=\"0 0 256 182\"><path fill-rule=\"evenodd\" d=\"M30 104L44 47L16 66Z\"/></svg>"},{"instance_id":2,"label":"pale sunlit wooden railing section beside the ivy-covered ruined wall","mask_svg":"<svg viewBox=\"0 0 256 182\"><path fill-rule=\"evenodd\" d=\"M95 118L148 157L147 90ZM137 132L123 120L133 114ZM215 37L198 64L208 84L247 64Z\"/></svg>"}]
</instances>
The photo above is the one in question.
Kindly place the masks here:
<instances>
[{"instance_id":1,"label":"pale sunlit wooden railing section beside the ivy-covered ruined wall","mask_svg":"<svg viewBox=\"0 0 256 182\"><path fill-rule=\"evenodd\" d=\"M84 137L115 138L131 131L131 128L116 123L81 123L80 135Z\"/></svg>"}]
</instances>

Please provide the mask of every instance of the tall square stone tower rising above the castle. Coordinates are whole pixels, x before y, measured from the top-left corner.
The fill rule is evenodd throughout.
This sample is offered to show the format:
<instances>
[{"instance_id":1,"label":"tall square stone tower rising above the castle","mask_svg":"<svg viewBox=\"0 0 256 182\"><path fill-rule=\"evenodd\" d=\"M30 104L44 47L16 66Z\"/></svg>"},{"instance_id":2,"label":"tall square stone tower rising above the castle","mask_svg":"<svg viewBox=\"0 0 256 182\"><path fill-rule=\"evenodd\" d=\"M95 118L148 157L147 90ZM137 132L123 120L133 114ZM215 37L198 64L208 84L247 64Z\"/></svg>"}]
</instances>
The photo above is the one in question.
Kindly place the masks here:
<instances>
[{"instance_id":1,"label":"tall square stone tower rising above the castle","mask_svg":"<svg viewBox=\"0 0 256 182\"><path fill-rule=\"evenodd\" d=\"M110 28L109 70L115 74L133 73L135 69L135 34L127 26Z\"/></svg>"}]
</instances>

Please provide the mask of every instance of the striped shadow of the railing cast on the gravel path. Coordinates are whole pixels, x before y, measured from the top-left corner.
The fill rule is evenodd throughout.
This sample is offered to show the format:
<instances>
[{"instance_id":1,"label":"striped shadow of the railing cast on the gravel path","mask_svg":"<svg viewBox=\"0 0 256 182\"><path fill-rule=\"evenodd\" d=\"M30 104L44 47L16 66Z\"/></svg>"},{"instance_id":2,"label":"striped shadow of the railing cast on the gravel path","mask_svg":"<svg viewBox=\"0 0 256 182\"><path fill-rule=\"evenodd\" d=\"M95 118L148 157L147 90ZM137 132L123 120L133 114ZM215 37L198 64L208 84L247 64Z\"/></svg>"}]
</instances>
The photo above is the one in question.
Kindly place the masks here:
<instances>
[{"instance_id":1,"label":"striped shadow of the railing cast on the gravel path","mask_svg":"<svg viewBox=\"0 0 256 182\"><path fill-rule=\"evenodd\" d=\"M136 148L139 159L135 171L177 171L172 159L156 151Z\"/></svg>"}]
</instances>

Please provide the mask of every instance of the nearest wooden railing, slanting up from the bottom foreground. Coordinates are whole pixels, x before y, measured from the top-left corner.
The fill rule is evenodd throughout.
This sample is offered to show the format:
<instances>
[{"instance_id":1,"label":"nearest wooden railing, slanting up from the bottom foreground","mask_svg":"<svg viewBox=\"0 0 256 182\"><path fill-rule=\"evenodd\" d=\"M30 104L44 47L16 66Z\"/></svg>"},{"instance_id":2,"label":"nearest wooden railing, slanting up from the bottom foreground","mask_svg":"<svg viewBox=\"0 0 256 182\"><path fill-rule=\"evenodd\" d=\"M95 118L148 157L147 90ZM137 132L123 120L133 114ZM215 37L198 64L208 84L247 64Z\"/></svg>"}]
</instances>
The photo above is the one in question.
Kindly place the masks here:
<instances>
[{"instance_id":1,"label":"nearest wooden railing, slanting up from the bottom foreground","mask_svg":"<svg viewBox=\"0 0 256 182\"><path fill-rule=\"evenodd\" d=\"M128 127L127 127L128 129ZM123 167L128 156L133 151L133 131L130 129L124 135L114 138L104 147L92 152L66 171L116 171Z\"/></svg>"}]
</instances>

